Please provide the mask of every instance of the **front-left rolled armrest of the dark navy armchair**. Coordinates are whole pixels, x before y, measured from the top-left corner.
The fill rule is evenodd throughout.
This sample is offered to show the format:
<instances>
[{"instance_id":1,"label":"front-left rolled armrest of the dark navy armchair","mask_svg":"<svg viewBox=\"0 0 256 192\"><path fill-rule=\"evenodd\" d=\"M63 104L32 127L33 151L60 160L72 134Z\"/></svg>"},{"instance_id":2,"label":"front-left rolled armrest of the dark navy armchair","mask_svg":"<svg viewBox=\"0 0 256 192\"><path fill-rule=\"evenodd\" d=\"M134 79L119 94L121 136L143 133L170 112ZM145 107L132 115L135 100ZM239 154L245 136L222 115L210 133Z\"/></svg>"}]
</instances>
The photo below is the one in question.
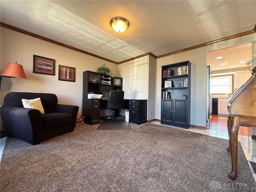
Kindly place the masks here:
<instances>
[{"instance_id":1,"label":"front-left rolled armrest of the dark navy armchair","mask_svg":"<svg viewBox=\"0 0 256 192\"><path fill-rule=\"evenodd\" d=\"M33 141L42 128L39 110L22 107L1 107L4 131L25 141Z\"/></svg>"}]
</instances>

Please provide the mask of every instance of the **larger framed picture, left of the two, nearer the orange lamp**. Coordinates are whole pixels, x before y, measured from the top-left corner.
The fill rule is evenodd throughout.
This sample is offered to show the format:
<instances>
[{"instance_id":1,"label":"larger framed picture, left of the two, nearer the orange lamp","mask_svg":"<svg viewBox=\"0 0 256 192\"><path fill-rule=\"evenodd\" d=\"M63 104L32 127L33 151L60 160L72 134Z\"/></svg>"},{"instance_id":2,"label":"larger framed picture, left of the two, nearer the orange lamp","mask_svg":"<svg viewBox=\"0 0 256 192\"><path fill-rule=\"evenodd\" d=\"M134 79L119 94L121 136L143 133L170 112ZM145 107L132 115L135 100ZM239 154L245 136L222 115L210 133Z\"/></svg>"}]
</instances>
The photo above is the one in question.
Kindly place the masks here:
<instances>
[{"instance_id":1,"label":"larger framed picture, left of the two, nearer the orange lamp","mask_svg":"<svg viewBox=\"0 0 256 192\"><path fill-rule=\"evenodd\" d=\"M55 75L55 60L34 55L33 73Z\"/></svg>"}]
</instances>

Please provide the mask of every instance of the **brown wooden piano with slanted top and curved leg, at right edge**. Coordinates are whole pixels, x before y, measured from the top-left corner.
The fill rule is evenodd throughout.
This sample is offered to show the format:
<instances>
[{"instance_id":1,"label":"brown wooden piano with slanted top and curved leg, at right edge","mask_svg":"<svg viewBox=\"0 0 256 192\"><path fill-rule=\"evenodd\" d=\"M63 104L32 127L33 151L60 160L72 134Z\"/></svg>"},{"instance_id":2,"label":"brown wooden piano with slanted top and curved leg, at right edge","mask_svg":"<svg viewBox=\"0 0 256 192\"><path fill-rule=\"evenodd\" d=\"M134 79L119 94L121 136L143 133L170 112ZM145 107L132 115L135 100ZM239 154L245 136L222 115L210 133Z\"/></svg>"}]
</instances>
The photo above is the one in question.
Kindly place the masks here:
<instances>
[{"instance_id":1,"label":"brown wooden piano with slanted top and curved leg, at right edge","mask_svg":"<svg viewBox=\"0 0 256 192\"><path fill-rule=\"evenodd\" d=\"M237 176L237 134L239 126L256 127L256 73L242 84L229 98L228 136L232 170L228 177L236 180Z\"/></svg>"}]
</instances>

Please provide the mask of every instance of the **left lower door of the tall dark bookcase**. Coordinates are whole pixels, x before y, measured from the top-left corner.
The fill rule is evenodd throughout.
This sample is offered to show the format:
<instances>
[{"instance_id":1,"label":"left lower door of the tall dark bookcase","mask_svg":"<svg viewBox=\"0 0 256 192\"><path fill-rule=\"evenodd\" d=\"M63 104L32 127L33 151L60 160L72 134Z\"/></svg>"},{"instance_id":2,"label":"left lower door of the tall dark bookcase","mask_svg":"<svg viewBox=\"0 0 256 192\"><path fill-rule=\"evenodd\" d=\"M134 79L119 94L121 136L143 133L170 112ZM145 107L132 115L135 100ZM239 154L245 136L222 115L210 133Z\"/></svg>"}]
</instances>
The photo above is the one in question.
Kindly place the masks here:
<instances>
[{"instance_id":1,"label":"left lower door of the tall dark bookcase","mask_svg":"<svg viewBox=\"0 0 256 192\"><path fill-rule=\"evenodd\" d=\"M173 122L172 100L162 100L161 120L163 122Z\"/></svg>"}]
</instances>

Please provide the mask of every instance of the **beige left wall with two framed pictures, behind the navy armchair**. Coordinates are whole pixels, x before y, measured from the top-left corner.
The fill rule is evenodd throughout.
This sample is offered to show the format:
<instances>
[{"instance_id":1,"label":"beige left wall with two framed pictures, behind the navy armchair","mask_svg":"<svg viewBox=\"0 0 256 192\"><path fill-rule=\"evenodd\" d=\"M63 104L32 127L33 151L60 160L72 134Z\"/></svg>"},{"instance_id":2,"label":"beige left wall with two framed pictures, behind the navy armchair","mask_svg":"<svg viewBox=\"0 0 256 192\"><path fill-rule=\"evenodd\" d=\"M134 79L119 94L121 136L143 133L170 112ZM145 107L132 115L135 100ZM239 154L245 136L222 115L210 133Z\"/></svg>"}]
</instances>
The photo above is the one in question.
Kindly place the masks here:
<instances>
[{"instance_id":1,"label":"beige left wall with two framed pictures, behind the navy armchair","mask_svg":"<svg viewBox=\"0 0 256 192\"><path fill-rule=\"evenodd\" d=\"M82 74L86 70L96 71L98 66L106 63L115 76L118 76L117 64L106 62L56 44L52 44L28 35L24 35L1 27L1 65L6 68L9 62L21 64L27 80L3 78L1 84L1 105L4 96L9 92L42 92L54 93L60 104L79 106L78 115L82 111ZM56 60L55 76L33 73L33 55ZM76 82L58 80L58 65L76 68Z\"/></svg>"}]
</instances>

